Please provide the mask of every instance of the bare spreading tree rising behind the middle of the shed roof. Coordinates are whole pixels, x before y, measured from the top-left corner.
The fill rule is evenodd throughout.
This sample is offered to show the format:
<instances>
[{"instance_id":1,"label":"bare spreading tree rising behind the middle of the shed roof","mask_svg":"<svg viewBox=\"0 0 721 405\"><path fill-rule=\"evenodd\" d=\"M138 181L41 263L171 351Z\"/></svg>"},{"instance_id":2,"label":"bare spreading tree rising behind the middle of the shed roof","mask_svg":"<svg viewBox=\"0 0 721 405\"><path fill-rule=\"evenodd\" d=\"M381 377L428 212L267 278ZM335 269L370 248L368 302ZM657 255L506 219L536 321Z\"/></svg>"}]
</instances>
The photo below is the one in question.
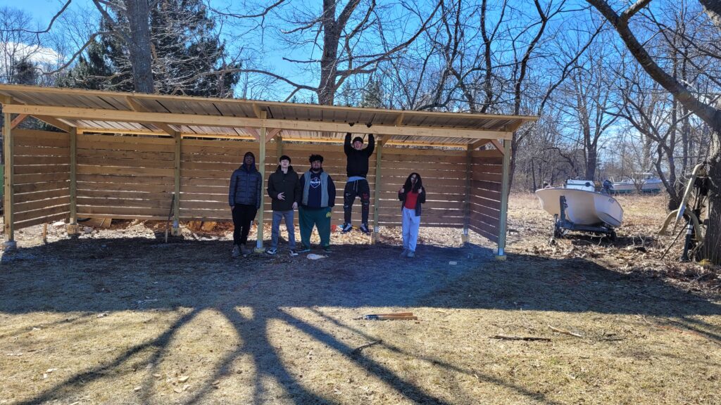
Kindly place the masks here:
<instances>
[{"instance_id":1,"label":"bare spreading tree rising behind the middle of the shed roof","mask_svg":"<svg viewBox=\"0 0 721 405\"><path fill-rule=\"evenodd\" d=\"M397 26L394 35L402 37L393 45L374 43L383 37L386 25L392 24L387 13L379 10L375 0L350 0L345 4L335 0L324 0L320 12L311 9L298 9L289 5L290 1L279 0L267 6L263 4L257 12L238 14L220 9L218 14L250 19L255 22L249 34L260 37L267 30L266 18L282 21L284 27L269 25L288 41L288 46L306 47L313 52L319 50L319 57L311 53L309 58L284 58L301 68L318 66L317 84L298 83L286 76L261 68L244 68L242 71L273 77L291 86L293 90L286 100L291 99L298 91L306 90L317 94L319 104L333 104L335 95L346 80L358 74L372 74L379 63L388 61L394 55L412 44L421 33L433 24L434 18L443 1L438 1L430 8L427 17L417 22L417 28L410 33L402 32ZM384 6L383 9L391 9ZM286 27L291 27L287 29Z\"/></svg>"}]
</instances>

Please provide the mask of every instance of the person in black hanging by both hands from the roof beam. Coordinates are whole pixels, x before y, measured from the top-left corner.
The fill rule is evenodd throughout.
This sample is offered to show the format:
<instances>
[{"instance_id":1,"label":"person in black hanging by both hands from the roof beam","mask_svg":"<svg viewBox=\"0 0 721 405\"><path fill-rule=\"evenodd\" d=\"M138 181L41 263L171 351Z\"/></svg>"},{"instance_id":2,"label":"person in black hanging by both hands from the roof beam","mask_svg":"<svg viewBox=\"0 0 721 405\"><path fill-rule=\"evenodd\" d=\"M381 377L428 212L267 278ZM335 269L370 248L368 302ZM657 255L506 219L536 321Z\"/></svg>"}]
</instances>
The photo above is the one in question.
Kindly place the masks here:
<instances>
[{"instance_id":1,"label":"person in black hanging by both hands from the roof beam","mask_svg":"<svg viewBox=\"0 0 721 405\"><path fill-rule=\"evenodd\" d=\"M355 197L361 197L361 232L370 233L368 228L368 212L371 209L371 187L368 186L368 159L376 148L376 138L368 134L368 147L363 148L363 138L356 136L353 143L350 142L350 132L345 134L343 151L347 156L345 172L348 175L348 182L343 190L343 226L342 232L346 233L353 229L350 224L350 214L353 211Z\"/></svg>"}]
</instances>

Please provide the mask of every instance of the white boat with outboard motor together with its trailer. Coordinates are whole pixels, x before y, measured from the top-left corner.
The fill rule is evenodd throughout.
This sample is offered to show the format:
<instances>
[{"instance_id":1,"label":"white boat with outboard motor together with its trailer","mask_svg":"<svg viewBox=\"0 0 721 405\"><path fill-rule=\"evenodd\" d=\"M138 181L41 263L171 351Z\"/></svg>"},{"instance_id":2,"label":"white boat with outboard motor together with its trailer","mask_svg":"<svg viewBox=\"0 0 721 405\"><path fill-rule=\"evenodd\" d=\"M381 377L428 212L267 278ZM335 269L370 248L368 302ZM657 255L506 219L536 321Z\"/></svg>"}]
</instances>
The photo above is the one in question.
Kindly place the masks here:
<instances>
[{"instance_id":1,"label":"white boat with outboard motor together with its trailer","mask_svg":"<svg viewBox=\"0 0 721 405\"><path fill-rule=\"evenodd\" d=\"M593 182L578 184L571 180L566 187L547 187L536 190L541 208L554 217L554 237L567 231L603 233L616 238L615 228L621 226L624 209L614 197L605 192L591 191Z\"/></svg>"}]
</instances>

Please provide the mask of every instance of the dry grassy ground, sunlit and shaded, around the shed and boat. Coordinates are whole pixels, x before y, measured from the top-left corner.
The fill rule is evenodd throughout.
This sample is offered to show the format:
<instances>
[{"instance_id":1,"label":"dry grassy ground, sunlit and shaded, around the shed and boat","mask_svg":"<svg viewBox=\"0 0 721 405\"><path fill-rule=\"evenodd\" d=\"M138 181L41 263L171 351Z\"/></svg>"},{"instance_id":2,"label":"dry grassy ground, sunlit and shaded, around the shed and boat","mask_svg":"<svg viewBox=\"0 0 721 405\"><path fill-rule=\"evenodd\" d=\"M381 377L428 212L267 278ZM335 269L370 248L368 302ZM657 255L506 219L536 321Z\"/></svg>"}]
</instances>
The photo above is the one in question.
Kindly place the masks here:
<instances>
[{"instance_id":1,"label":"dry grassy ground, sunlit and shaded, around the shed and boat","mask_svg":"<svg viewBox=\"0 0 721 405\"><path fill-rule=\"evenodd\" d=\"M412 260L397 229L309 260L232 259L222 229L28 228L0 258L0 404L721 404L721 272L659 259L663 197L620 201L617 241L549 246L513 195L505 262L453 229ZM354 319L399 311L418 320Z\"/></svg>"}]
</instances>

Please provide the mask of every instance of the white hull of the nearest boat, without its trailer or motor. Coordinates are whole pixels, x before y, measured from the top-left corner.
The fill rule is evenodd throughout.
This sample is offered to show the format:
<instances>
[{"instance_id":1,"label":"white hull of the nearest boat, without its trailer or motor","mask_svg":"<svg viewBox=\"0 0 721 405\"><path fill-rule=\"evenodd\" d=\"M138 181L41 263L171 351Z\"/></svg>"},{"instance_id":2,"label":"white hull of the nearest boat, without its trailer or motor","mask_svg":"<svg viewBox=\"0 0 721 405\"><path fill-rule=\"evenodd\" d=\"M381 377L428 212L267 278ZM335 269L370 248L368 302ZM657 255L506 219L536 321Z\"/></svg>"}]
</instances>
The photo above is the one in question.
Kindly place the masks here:
<instances>
[{"instance_id":1,"label":"white hull of the nearest boat, without its trailer or motor","mask_svg":"<svg viewBox=\"0 0 721 405\"><path fill-rule=\"evenodd\" d=\"M536 196L541 207L556 218L561 217L560 197L566 197L565 219L574 225L617 228L624 219L619 202L601 192L551 187L536 190Z\"/></svg>"}]
</instances>

